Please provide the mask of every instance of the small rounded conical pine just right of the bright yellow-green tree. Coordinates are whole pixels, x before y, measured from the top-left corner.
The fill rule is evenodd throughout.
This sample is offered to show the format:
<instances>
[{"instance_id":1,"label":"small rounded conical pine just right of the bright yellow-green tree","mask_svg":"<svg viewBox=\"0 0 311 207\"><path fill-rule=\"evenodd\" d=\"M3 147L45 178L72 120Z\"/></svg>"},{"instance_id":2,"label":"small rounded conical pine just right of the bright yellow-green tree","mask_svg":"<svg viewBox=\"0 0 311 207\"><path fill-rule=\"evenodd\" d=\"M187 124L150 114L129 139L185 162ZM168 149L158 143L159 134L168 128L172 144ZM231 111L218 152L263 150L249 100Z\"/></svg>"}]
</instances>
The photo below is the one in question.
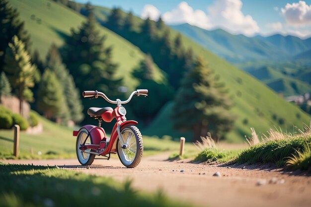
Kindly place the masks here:
<instances>
[{"instance_id":1,"label":"small rounded conical pine just right of the bright yellow-green tree","mask_svg":"<svg viewBox=\"0 0 311 207\"><path fill-rule=\"evenodd\" d=\"M42 75L38 95L37 108L46 118L57 119L62 115L64 94L55 73L50 69L46 69Z\"/></svg>"}]
</instances>

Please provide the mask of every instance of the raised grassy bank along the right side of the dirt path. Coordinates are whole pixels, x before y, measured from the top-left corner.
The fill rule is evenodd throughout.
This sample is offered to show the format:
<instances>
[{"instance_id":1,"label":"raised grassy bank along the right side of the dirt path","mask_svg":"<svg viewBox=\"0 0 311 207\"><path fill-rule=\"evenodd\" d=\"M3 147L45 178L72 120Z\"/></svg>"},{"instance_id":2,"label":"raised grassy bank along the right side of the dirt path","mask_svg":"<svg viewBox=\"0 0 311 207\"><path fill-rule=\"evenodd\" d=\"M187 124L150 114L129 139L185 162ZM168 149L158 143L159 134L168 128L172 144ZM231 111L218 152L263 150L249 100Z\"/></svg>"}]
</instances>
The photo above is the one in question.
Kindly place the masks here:
<instances>
[{"instance_id":1,"label":"raised grassy bank along the right side of the dirt path","mask_svg":"<svg viewBox=\"0 0 311 207\"><path fill-rule=\"evenodd\" d=\"M285 167L289 160L296 157L297 160L293 162L292 168L297 168L299 163L303 160L308 160L303 165L306 168L311 167L310 151L306 150L306 146L311 146L311 137L302 138L286 138L269 140L243 150L234 160L236 163L276 163L278 167ZM300 168L300 167L299 167Z\"/></svg>"}]
</instances>

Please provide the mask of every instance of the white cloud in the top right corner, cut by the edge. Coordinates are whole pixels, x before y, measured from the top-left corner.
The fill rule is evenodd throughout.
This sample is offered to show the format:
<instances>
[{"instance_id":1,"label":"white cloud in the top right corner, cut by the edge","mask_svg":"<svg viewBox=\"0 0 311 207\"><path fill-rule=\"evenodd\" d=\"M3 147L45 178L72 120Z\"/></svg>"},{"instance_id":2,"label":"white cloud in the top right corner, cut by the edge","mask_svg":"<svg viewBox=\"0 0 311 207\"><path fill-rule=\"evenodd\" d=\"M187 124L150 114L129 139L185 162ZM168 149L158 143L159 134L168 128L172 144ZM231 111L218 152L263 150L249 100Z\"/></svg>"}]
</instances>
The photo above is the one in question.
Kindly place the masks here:
<instances>
[{"instance_id":1,"label":"white cloud in the top right corner, cut by the edge","mask_svg":"<svg viewBox=\"0 0 311 207\"><path fill-rule=\"evenodd\" d=\"M307 25L311 24L311 5L300 0L298 3L287 3L285 8L281 8L285 20L290 25Z\"/></svg>"}]
</instances>

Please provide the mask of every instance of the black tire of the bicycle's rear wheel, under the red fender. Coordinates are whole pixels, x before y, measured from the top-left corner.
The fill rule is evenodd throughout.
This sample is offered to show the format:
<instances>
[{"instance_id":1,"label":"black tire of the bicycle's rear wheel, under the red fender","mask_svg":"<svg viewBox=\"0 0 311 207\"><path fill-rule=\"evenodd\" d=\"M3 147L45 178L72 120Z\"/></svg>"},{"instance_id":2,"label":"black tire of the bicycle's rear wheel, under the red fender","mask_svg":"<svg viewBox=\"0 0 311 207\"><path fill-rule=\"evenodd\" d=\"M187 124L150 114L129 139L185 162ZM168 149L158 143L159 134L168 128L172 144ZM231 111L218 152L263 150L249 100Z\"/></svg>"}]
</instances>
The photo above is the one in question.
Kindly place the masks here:
<instances>
[{"instance_id":1,"label":"black tire of the bicycle's rear wheel, under the red fender","mask_svg":"<svg viewBox=\"0 0 311 207\"><path fill-rule=\"evenodd\" d=\"M94 161L94 158L95 158L95 154L88 154L88 153L84 153L84 154L87 154L86 156L86 159L83 159L83 152L81 153L81 150L79 149L80 147L80 139L82 138L82 136L87 136L88 132L87 130L85 129L82 129L78 136L77 136L77 141L76 141L76 154L77 154L77 158L78 158L78 161L81 165L91 165ZM84 137L85 138L85 137ZM89 136L89 138L87 138L90 140L91 144L92 144L92 139L91 137ZM84 140L84 139L83 139ZM83 143L83 142L82 142Z\"/></svg>"}]
</instances>

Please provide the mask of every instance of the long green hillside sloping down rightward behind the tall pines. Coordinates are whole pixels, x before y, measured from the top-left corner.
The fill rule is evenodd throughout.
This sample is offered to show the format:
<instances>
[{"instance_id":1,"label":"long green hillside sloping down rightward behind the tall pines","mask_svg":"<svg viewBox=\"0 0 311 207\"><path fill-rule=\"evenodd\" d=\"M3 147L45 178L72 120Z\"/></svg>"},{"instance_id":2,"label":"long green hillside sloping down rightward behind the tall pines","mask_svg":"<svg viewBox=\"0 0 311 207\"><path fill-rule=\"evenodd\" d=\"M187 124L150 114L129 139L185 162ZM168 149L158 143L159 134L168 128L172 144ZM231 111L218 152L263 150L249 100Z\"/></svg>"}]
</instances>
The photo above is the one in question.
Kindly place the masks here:
<instances>
[{"instance_id":1,"label":"long green hillside sloping down rightward behind the tall pines","mask_svg":"<svg viewBox=\"0 0 311 207\"><path fill-rule=\"evenodd\" d=\"M95 9L101 14L97 16L98 20L105 21L107 8L96 6ZM143 20L136 17L135 21L138 25ZM170 29L170 33L171 38L178 34L174 29ZM302 127L303 123L309 123L310 117L306 113L286 102L257 79L217 57L184 35L182 35L182 41L186 48L193 49L195 55L202 56L229 88L229 95L234 102L232 112L237 119L233 131L227 135L228 140L241 141L244 135L250 135L250 127L254 127L258 133L265 133L270 128L279 126L279 121L273 117L285 120L284 124L280 126L284 131L292 131L293 126ZM166 104L153 123L143 132L148 135L172 137L187 135L186 137L190 140L191 133L184 134L172 129L171 110L172 103Z\"/></svg>"}]
</instances>

